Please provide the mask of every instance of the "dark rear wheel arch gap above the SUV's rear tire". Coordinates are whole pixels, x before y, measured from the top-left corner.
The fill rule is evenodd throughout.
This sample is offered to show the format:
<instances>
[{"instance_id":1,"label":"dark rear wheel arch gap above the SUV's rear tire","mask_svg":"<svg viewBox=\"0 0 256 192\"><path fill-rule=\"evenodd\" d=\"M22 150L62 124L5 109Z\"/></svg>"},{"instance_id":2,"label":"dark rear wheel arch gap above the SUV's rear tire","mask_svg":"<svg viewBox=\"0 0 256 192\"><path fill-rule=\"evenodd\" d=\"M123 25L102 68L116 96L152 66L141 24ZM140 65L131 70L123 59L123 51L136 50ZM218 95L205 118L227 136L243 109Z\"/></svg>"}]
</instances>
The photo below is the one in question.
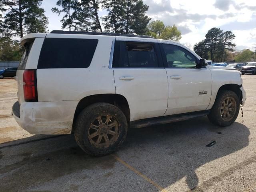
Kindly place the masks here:
<instances>
[{"instance_id":1,"label":"dark rear wheel arch gap above the SUV's rear tire","mask_svg":"<svg viewBox=\"0 0 256 192\"><path fill-rule=\"evenodd\" d=\"M122 110L122 112L126 116L127 122L130 122L130 108L129 108L128 101L124 96L120 94L90 95L82 98L76 106L73 125L72 125L72 132L74 131L74 122L76 122L76 118L80 114L80 112L87 106L94 103L98 103L98 102L110 103L110 104L113 104L114 106L117 106Z\"/></svg>"}]
</instances>

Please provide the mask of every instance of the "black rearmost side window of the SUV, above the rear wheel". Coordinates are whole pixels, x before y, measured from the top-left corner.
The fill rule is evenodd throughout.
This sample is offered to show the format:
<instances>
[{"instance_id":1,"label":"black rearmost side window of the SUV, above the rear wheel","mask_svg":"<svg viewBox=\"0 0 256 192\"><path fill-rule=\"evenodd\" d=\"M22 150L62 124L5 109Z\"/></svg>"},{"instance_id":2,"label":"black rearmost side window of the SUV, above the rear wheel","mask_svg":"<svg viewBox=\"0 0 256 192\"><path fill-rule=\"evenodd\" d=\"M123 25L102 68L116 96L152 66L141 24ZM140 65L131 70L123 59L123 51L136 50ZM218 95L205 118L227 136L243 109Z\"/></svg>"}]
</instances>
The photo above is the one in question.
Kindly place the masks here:
<instances>
[{"instance_id":1,"label":"black rearmost side window of the SUV, above the rear wheel","mask_svg":"<svg viewBox=\"0 0 256 192\"><path fill-rule=\"evenodd\" d=\"M37 68L87 68L97 44L97 39L45 38Z\"/></svg>"}]
</instances>

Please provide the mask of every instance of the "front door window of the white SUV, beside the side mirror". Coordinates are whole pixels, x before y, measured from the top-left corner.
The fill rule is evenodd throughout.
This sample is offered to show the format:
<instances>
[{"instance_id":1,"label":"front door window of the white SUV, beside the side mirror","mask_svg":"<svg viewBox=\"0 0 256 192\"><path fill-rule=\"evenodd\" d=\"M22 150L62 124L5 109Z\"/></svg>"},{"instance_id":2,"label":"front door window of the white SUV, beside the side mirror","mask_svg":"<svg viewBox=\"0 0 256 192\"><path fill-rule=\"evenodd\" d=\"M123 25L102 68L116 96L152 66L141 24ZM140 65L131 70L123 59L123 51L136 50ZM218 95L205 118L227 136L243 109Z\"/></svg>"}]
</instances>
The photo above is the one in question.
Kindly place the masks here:
<instances>
[{"instance_id":1,"label":"front door window of the white SUV, beside the side mirror","mask_svg":"<svg viewBox=\"0 0 256 192\"><path fill-rule=\"evenodd\" d=\"M196 68L197 59L184 48L171 44L162 44L167 68Z\"/></svg>"}]
</instances>

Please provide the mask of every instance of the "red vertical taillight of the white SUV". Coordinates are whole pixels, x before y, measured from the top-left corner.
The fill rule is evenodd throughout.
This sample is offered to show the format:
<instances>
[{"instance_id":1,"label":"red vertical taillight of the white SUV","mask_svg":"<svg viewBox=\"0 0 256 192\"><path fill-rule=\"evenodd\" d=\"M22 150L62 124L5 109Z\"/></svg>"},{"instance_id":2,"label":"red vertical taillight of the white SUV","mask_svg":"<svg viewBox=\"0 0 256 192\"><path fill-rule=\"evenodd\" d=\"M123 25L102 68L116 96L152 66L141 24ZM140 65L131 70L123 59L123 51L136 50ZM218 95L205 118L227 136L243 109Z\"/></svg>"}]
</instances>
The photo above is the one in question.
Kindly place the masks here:
<instances>
[{"instance_id":1,"label":"red vertical taillight of the white SUV","mask_svg":"<svg viewBox=\"0 0 256 192\"><path fill-rule=\"evenodd\" d=\"M36 69L26 69L23 73L23 92L26 102L37 102Z\"/></svg>"}]
</instances>

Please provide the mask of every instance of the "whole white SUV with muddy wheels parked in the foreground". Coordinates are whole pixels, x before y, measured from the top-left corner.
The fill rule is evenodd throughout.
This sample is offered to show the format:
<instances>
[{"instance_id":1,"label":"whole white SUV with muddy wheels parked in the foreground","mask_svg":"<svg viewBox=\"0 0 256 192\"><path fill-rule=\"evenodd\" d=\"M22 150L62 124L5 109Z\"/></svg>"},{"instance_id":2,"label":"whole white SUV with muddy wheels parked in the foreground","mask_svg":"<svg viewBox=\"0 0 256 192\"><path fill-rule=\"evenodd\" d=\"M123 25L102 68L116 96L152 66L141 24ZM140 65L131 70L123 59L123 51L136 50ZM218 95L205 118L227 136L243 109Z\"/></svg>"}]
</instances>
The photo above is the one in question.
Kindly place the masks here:
<instances>
[{"instance_id":1,"label":"whole white SUV with muddy wheels parked in the foreground","mask_svg":"<svg viewBox=\"0 0 256 192\"><path fill-rule=\"evenodd\" d=\"M29 34L13 116L31 134L71 134L88 154L116 150L128 127L208 115L232 124L246 94L241 73L207 65L185 46L148 36Z\"/></svg>"}]
</instances>

